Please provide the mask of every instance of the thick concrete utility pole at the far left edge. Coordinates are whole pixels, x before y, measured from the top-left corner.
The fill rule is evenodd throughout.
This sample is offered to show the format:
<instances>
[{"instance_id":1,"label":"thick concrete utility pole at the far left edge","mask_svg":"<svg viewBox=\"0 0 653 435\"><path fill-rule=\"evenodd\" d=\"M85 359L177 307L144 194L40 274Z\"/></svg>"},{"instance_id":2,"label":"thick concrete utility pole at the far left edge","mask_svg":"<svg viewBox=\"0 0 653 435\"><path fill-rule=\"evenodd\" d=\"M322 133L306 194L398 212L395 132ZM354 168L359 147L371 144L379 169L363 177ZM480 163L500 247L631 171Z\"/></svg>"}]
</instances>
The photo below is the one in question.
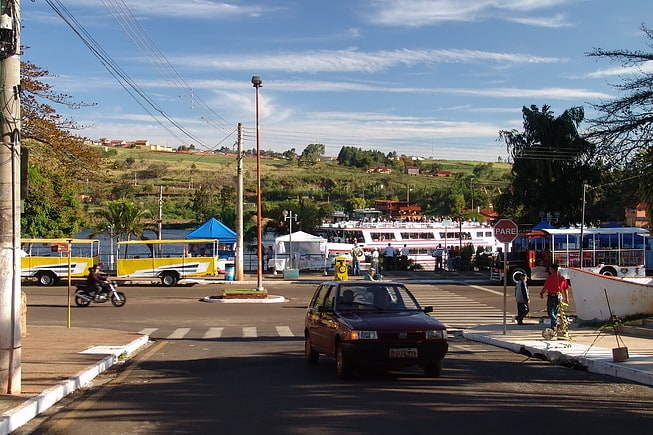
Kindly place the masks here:
<instances>
[{"instance_id":1,"label":"thick concrete utility pole at the far left edge","mask_svg":"<svg viewBox=\"0 0 653 435\"><path fill-rule=\"evenodd\" d=\"M21 392L20 0L0 2L0 389Z\"/></svg>"}]
</instances>

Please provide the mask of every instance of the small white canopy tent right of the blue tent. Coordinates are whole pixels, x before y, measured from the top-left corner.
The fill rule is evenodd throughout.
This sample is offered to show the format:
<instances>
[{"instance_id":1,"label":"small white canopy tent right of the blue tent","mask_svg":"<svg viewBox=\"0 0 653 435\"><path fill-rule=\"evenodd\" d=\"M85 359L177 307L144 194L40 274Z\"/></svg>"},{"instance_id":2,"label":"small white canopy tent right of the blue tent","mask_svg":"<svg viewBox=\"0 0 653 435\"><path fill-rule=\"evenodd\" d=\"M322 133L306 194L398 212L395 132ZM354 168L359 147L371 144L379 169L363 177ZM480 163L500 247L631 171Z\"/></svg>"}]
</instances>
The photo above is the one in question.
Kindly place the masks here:
<instances>
[{"instance_id":1,"label":"small white canopy tent right of the blue tent","mask_svg":"<svg viewBox=\"0 0 653 435\"><path fill-rule=\"evenodd\" d=\"M292 246L291 246L292 243ZM302 270L320 270L324 267L326 239L303 231L279 236L274 240L275 268L279 269L279 259L289 263L290 253L293 268ZM290 267L290 264L284 264ZM281 267L283 269L285 267Z\"/></svg>"}]
</instances>

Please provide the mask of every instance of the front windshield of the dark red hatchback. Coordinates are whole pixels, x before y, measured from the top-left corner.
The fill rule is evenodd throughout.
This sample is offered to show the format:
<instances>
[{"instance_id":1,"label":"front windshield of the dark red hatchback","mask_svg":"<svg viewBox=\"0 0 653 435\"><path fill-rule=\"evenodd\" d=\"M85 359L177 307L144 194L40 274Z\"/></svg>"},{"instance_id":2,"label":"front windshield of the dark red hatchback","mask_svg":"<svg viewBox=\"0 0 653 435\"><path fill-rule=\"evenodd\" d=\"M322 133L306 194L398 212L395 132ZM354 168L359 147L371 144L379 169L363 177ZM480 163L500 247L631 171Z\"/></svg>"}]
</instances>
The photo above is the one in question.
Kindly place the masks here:
<instances>
[{"instance_id":1,"label":"front windshield of the dark red hatchback","mask_svg":"<svg viewBox=\"0 0 653 435\"><path fill-rule=\"evenodd\" d=\"M420 310L417 301L401 285L347 285L338 290L336 309L349 310Z\"/></svg>"}]
</instances>

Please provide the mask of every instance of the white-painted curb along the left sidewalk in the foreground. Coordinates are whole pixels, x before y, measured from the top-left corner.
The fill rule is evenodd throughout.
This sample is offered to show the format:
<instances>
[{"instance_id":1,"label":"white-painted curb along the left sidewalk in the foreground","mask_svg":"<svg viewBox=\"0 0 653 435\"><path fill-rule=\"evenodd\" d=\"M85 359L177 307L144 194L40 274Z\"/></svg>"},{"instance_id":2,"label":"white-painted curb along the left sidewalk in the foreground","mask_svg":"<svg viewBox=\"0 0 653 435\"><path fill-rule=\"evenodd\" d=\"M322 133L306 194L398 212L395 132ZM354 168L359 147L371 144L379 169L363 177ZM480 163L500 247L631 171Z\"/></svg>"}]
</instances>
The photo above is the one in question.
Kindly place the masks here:
<instances>
[{"instance_id":1,"label":"white-painted curb along the left sidewalk in the foreground","mask_svg":"<svg viewBox=\"0 0 653 435\"><path fill-rule=\"evenodd\" d=\"M141 336L126 346L112 346L114 351L97 364L82 370L77 375L68 378L43 391L38 396L32 397L20 406L7 411L0 416L0 435L7 435L23 426L37 415L45 412L59 400L68 394L88 385L95 377L104 372L119 361L121 355L131 355L140 347L146 345L150 340L147 335Z\"/></svg>"}]
</instances>

